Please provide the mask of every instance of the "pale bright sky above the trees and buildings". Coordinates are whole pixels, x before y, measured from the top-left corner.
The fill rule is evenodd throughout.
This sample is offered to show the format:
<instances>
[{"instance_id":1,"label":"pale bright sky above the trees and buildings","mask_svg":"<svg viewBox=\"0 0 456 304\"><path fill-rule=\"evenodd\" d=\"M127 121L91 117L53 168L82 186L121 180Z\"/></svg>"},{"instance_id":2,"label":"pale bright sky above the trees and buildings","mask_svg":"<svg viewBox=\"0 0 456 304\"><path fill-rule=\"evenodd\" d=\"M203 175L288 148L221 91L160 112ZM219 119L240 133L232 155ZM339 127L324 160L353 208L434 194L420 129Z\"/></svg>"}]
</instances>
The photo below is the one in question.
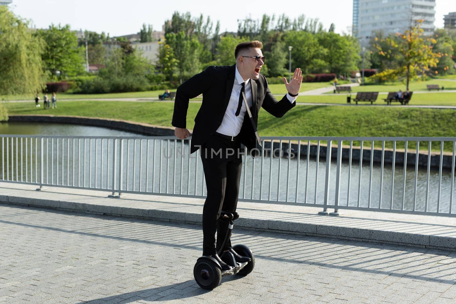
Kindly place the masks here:
<instances>
[{"instance_id":1,"label":"pale bright sky above the trees and buildings","mask_svg":"<svg viewBox=\"0 0 456 304\"><path fill-rule=\"evenodd\" d=\"M443 27L443 15L456 11L456 0L435 0L435 26ZM161 31L166 20L176 10L190 12L193 17L203 14L215 24L220 21L220 32L237 31L238 20L263 14L285 14L293 20L304 14L318 18L328 29L331 23L336 32L349 33L352 25L352 0L261 0L225 2L209 0L13 0L10 8L21 18L32 21L36 28L47 28L51 23L69 24L73 30L88 30L122 36L140 31L142 24Z\"/></svg>"}]
</instances>

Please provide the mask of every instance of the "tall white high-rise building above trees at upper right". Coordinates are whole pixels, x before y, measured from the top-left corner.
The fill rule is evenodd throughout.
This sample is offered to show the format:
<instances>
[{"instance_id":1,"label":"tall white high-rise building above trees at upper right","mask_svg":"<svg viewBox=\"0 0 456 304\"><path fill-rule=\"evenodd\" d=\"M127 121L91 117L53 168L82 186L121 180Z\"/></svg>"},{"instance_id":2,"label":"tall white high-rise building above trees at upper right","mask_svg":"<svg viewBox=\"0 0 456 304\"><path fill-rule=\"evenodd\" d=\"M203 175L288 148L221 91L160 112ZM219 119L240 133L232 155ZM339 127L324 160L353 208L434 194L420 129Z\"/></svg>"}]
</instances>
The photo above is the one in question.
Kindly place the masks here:
<instances>
[{"instance_id":1,"label":"tall white high-rise building above trees at upper right","mask_svg":"<svg viewBox=\"0 0 456 304\"><path fill-rule=\"evenodd\" d=\"M366 46L373 31L404 32L423 19L425 35L434 33L435 0L353 0L353 36Z\"/></svg>"}]
</instances>

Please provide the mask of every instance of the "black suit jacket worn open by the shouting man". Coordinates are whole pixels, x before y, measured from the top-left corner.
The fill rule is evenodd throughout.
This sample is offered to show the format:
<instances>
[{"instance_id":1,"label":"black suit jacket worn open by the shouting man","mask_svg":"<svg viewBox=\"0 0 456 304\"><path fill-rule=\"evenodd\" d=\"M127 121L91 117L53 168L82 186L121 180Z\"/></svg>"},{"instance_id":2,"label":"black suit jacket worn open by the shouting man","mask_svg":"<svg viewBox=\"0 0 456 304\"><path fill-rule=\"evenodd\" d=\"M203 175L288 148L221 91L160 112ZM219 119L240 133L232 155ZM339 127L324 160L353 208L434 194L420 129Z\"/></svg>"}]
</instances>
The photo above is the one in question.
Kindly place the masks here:
<instances>
[{"instance_id":1,"label":"black suit jacket worn open by the shouting man","mask_svg":"<svg viewBox=\"0 0 456 304\"><path fill-rule=\"evenodd\" d=\"M182 83L176 91L172 125L177 128L187 128L188 101L202 94L202 104L195 117L195 127L192 133L193 153L202 147L209 136L216 132L222 124L223 116L228 107L235 78L236 65L224 67L208 67L203 72L193 76ZM260 107L274 115L282 117L296 103L290 103L286 95L280 100L271 94L266 78L260 74L258 80L250 79L252 86L252 117L255 126L258 125L258 112ZM248 149L256 147L256 138L249 114L246 112L244 123L238 134L242 144Z\"/></svg>"}]
</instances>

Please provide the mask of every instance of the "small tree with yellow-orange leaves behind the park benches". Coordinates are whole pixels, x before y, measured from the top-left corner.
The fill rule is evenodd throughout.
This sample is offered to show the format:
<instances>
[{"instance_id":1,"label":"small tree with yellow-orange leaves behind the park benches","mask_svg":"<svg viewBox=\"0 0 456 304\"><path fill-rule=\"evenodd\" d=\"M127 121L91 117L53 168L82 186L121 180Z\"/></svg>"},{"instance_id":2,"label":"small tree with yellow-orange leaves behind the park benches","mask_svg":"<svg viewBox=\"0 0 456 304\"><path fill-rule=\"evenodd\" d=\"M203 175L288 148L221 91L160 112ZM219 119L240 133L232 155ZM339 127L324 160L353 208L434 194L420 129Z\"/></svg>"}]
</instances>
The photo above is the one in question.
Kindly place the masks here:
<instances>
[{"instance_id":1,"label":"small tree with yellow-orange leaves behind the park benches","mask_svg":"<svg viewBox=\"0 0 456 304\"><path fill-rule=\"evenodd\" d=\"M410 78L416 77L419 73L429 71L430 67L436 67L439 62L440 54L432 52L431 44L435 44L432 37L424 37L423 29L420 25L423 20L417 20L415 26L404 31L403 34L396 33L394 38L386 38L388 46L396 51L394 59L399 67L395 72L406 79L407 89L409 88ZM384 57L391 57L392 51L385 52L381 46L377 45L378 53Z\"/></svg>"}]
</instances>

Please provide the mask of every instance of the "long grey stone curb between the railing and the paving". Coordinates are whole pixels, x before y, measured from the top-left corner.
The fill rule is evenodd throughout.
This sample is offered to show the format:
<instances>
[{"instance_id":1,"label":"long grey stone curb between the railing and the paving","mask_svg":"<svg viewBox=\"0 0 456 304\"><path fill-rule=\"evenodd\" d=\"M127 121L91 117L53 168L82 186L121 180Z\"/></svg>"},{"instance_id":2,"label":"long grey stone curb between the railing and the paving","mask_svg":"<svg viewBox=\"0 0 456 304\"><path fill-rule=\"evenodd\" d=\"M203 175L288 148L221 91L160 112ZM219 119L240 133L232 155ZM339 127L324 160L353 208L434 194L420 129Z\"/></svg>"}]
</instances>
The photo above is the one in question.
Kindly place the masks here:
<instances>
[{"instance_id":1,"label":"long grey stone curb between the railing and the paving","mask_svg":"<svg viewBox=\"0 0 456 304\"><path fill-rule=\"evenodd\" d=\"M79 203L74 201L55 201L0 195L0 202L13 205L58 209L73 212L85 212L109 216L125 216L165 222L184 222L201 225L202 214L192 212L142 209L124 206ZM408 233L344 227L341 225L312 224L262 218L241 217L235 222L236 227L252 230L284 232L308 236L332 237L363 242L388 243L412 247L426 247L456 251L456 237L430 235L426 233Z\"/></svg>"}]
</instances>

